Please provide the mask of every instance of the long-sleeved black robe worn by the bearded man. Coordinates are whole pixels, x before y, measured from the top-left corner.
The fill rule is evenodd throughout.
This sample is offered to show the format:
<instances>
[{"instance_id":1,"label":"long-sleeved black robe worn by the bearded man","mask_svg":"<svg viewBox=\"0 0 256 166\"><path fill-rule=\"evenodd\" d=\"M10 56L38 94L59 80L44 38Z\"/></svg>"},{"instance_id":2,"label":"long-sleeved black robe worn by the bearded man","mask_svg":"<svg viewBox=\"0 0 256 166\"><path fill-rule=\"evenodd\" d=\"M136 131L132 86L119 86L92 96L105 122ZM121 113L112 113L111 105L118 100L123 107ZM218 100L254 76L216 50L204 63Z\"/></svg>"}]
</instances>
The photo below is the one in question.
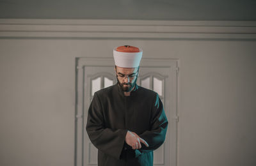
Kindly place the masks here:
<instances>
[{"instance_id":1,"label":"long-sleeved black robe worn by the bearded man","mask_svg":"<svg viewBox=\"0 0 256 166\"><path fill-rule=\"evenodd\" d=\"M98 149L99 166L153 165L153 151L163 144L168 121L158 94L136 85L131 96L115 84L97 91L88 110L86 131ZM141 149L126 144L127 130L146 140Z\"/></svg>"}]
</instances>

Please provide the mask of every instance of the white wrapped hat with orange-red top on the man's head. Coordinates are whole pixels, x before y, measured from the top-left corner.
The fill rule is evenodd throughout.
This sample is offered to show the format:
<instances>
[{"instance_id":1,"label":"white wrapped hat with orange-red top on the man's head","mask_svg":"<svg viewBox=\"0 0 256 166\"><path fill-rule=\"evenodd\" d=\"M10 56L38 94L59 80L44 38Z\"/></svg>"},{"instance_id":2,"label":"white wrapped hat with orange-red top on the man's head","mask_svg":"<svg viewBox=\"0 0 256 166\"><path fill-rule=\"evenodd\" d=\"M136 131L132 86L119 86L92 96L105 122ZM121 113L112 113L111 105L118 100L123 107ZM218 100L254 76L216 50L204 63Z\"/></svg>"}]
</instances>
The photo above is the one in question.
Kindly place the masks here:
<instances>
[{"instance_id":1,"label":"white wrapped hat with orange-red top on the man's head","mask_svg":"<svg viewBox=\"0 0 256 166\"><path fill-rule=\"evenodd\" d=\"M121 68L136 68L140 66L142 50L130 45L116 47L113 50L115 64Z\"/></svg>"}]
</instances>

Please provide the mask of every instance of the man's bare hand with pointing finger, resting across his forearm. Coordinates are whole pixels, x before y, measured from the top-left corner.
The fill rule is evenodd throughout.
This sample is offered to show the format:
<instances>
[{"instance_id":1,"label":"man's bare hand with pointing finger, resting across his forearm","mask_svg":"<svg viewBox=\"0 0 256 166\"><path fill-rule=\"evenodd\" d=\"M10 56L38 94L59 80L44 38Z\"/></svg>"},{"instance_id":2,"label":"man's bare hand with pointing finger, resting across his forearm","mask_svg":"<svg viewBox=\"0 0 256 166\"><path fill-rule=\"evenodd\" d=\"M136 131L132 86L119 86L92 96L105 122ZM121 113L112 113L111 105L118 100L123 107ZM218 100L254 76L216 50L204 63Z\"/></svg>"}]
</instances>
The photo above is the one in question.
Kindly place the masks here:
<instances>
[{"instance_id":1,"label":"man's bare hand with pointing finger, resting across his forearm","mask_svg":"<svg viewBox=\"0 0 256 166\"><path fill-rule=\"evenodd\" d=\"M141 139L141 137L139 137L136 133L130 132L129 130L126 133L125 142L131 146L132 149L140 149L141 143L148 147L148 143L145 140Z\"/></svg>"}]
</instances>

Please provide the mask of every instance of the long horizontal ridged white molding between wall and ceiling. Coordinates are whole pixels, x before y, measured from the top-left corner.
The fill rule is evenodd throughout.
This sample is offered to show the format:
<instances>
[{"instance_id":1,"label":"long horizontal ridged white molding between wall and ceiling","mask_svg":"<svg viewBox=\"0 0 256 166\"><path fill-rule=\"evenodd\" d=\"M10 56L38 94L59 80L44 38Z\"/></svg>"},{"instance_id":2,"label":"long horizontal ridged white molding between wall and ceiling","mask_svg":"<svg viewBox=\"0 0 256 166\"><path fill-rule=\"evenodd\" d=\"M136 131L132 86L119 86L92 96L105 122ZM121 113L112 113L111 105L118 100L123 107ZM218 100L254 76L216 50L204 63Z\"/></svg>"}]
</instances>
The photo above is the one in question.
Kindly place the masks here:
<instances>
[{"instance_id":1,"label":"long horizontal ridged white molding between wall and ceiling","mask_svg":"<svg viewBox=\"0 0 256 166\"><path fill-rule=\"evenodd\" d=\"M0 19L0 38L255 40L256 22Z\"/></svg>"}]
</instances>

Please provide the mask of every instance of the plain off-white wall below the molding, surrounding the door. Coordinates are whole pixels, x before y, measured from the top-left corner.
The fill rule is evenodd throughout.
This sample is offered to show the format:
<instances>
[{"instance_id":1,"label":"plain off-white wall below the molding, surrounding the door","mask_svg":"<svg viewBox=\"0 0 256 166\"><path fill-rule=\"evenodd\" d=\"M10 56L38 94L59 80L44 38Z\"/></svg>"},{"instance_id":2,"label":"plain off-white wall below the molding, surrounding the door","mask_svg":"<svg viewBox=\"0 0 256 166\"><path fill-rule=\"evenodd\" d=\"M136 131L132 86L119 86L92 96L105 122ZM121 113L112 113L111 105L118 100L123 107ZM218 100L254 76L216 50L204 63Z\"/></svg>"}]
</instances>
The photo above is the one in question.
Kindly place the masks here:
<instances>
[{"instance_id":1,"label":"plain off-white wall below the molding, surrounding the door","mask_svg":"<svg viewBox=\"0 0 256 166\"><path fill-rule=\"evenodd\" d=\"M256 165L256 41L0 39L0 165L74 164L75 58L178 58L178 165Z\"/></svg>"}]
</instances>

